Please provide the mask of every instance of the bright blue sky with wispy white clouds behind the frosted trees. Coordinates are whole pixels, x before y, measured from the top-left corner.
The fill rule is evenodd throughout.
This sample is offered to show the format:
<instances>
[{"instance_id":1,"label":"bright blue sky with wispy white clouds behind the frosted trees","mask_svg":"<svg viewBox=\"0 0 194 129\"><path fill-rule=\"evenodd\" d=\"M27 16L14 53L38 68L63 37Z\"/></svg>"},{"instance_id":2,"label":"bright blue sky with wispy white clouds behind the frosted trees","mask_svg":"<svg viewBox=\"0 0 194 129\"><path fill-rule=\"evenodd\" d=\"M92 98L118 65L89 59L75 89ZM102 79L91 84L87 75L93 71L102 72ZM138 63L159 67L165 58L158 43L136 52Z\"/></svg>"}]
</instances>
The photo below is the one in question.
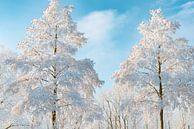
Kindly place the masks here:
<instances>
[{"instance_id":1,"label":"bright blue sky with wispy white clouds behind the frosted trees","mask_svg":"<svg viewBox=\"0 0 194 129\"><path fill-rule=\"evenodd\" d=\"M103 90L113 85L111 75L118 70L132 46L138 43L137 27L149 18L149 10L161 8L165 16L181 23L176 36L194 43L194 1L192 0L61 0L72 4L78 29L88 38L77 53L78 58L91 58L99 77L105 80ZM1 0L0 44L16 50L25 29L34 18L40 18L48 0ZM103 91L100 90L100 91Z\"/></svg>"}]
</instances>

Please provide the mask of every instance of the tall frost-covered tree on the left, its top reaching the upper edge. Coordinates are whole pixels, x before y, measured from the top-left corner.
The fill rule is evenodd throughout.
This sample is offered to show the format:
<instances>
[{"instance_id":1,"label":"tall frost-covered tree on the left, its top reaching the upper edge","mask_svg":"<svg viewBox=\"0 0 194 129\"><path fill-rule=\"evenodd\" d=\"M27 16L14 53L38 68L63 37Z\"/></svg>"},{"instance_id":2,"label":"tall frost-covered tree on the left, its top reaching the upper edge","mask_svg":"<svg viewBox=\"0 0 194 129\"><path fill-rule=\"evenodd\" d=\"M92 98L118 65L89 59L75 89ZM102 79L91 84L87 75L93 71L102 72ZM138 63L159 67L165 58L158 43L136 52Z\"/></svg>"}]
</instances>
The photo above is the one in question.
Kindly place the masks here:
<instances>
[{"instance_id":1,"label":"tall frost-covered tree on the left, its top reaching the upper edge","mask_svg":"<svg viewBox=\"0 0 194 129\"><path fill-rule=\"evenodd\" d=\"M64 112L87 109L95 88L103 83L91 60L74 58L86 38L77 31L71 12L71 6L61 8L58 0L51 0L43 17L32 21L19 44L20 56L10 61L17 70L15 87L24 95L17 109L33 114L34 126L44 120L50 121L48 126L53 129L66 125L63 122L68 120L62 119L71 116L65 118Z\"/></svg>"}]
</instances>

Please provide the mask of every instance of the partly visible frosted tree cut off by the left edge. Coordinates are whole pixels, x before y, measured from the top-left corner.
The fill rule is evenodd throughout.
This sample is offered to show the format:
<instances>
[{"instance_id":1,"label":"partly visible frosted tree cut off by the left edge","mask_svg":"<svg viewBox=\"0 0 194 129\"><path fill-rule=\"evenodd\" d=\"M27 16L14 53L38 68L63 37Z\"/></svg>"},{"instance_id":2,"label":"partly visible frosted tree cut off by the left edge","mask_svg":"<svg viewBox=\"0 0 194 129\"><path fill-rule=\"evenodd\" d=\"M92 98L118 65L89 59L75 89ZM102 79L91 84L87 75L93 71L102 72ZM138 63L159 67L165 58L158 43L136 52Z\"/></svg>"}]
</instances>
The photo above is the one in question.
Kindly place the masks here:
<instances>
[{"instance_id":1,"label":"partly visible frosted tree cut off by the left edge","mask_svg":"<svg viewBox=\"0 0 194 129\"><path fill-rule=\"evenodd\" d=\"M0 47L0 128L26 127L24 119L11 114L12 107L18 101L18 95L10 90L15 83L15 72L7 65L16 54L5 47Z\"/></svg>"}]
</instances>

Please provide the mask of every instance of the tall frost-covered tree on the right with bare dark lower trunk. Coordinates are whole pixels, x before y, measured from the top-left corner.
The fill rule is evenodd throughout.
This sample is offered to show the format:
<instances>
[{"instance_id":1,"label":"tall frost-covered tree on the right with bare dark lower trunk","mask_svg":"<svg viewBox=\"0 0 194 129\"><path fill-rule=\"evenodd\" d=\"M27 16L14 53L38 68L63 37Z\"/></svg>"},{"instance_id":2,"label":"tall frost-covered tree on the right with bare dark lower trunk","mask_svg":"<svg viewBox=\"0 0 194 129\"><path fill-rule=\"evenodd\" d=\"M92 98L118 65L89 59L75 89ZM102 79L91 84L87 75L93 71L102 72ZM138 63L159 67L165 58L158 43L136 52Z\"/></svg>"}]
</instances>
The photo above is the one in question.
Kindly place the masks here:
<instances>
[{"instance_id":1,"label":"tall frost-covered tree on the right with bare dark lower trunk","mask_svg":"<svg viewBox=\"0 0 194 129\"><path fill-rule=\"evenodd\" d=\"M116 85L134 87L143 108L157 109L161 129L164 109L189 111L194 104L194 48L173 38L178 28L161 9L152 10L149 21L139 26L140 43L114 74Z\"/></svg>"}]
</instances>

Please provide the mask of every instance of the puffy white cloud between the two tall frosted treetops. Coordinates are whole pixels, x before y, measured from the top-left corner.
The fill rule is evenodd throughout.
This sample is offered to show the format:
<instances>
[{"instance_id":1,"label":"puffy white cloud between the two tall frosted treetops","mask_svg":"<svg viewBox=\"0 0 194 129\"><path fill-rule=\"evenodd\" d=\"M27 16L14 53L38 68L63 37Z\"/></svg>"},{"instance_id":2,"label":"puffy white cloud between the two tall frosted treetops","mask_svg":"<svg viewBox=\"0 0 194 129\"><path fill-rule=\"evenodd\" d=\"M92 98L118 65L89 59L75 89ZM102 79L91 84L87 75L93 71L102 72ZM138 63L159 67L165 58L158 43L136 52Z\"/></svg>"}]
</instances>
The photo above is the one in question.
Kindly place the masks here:
<instances>
[{"instance_id":1,"label":"puffy white cloud between the two tall frosted treetops","mask_svg":"<svg viewBox=\"0 0 194 129\"><path fill-rule=\"evenodd\" d=\"M102 43L111 40L112 32L126 21L127 15L114 10L96 11L78 22L78 29L85 33L89 42Z\"/></svg>"}]
</instances>

